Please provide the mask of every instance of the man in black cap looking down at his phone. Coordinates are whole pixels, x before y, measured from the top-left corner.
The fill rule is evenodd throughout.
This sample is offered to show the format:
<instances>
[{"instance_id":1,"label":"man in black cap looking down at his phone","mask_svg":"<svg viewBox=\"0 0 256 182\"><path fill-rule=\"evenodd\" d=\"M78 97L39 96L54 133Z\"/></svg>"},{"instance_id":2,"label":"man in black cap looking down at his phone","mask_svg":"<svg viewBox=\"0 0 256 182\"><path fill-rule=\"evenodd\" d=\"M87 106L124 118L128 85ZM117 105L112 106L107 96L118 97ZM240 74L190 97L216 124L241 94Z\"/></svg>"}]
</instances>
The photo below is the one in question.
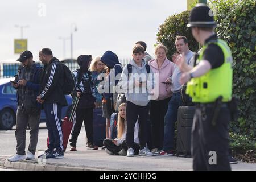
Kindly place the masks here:
<instances>
[{"instance_id":1,"label":"man in black cap looking down at his phone","mask_svg":"<svg viewBox=\"0 0 256 182\"><path fill-rule=\"evenodd\" d=\"M16 84L12 84L17 89L18 96L15 131L17 152L8 159L9 161L35 159L41 111L40 104L36 103L36 96L39 93L43 68L35 64L30 51L22 52L17 61L22 63L15 78ZM30 145L26 155L26 129L28 124L30 126Z\"/></svg>"}]
</instances>

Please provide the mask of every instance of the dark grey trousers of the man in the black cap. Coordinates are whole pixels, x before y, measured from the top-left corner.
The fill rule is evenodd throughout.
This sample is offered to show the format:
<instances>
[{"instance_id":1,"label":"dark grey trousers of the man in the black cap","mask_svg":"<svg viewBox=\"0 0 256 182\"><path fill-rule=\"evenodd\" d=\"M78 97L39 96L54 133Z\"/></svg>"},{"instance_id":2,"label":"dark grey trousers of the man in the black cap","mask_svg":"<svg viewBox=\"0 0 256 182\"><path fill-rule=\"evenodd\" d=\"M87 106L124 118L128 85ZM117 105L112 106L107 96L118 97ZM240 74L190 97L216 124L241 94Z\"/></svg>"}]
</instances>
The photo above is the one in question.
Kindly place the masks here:
<instances>
[{"instance_id":1,"label":"dark grey trousers of the man in the black cap","mask_svg":"<svg viewBox=\"0 0 256 182\"><path fill-rule=\"evenodd\" d=\"M25 155L26 147L26 129L30 126L30 145L28 151L35 155L36 145L38 144L38 131L41 110L38 109L34 114L24 114L18 106L16 114L16 131L17 140L16 151L19 155Z\"/></svg>"}]
</instances>

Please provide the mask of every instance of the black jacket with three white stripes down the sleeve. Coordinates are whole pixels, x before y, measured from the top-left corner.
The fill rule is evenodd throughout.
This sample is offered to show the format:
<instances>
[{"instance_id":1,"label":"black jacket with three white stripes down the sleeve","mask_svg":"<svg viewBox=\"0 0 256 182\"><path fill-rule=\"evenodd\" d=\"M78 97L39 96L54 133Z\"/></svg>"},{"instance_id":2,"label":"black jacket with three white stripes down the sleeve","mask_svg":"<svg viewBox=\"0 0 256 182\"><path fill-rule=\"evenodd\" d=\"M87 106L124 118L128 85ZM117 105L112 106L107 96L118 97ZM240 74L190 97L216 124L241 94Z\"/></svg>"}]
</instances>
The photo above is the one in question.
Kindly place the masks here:
<instances>
[{"instance_id":1,"label":"black jacket with three white stripes down the sleeve","mask_svg":"<svg viewBox=\"0 0 256 182\"><path fill-rule=\"evenodd\" d=\"M67 106L63 93L64 71L62 63L53 57L49 64L44 65L43 80L40 85L40 96L44 104L58 103Z\"/></svg>"}]
</instances>

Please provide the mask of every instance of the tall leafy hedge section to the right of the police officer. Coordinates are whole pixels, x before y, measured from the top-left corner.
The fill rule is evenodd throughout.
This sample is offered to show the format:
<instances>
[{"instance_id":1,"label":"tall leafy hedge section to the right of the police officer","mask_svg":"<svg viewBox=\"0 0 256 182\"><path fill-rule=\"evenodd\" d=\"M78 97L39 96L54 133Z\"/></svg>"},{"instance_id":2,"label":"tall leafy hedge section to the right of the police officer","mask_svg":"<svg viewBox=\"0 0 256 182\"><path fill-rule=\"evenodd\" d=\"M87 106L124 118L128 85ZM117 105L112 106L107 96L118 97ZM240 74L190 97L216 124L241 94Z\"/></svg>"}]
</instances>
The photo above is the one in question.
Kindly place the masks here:
<instances>
[{"instance_id":1,"label":"tall leafy hedge section to the right of the police officer","mask_svg":"<svg viewBox=\"0 0 256 182\"><path fill-rule=\"evenodd\" d=\"M233 55L233 94L240 99L240 117L233 131L256 136L256 2L212 1L216 32L228 42Z\"/></svg>"}]
</instances>

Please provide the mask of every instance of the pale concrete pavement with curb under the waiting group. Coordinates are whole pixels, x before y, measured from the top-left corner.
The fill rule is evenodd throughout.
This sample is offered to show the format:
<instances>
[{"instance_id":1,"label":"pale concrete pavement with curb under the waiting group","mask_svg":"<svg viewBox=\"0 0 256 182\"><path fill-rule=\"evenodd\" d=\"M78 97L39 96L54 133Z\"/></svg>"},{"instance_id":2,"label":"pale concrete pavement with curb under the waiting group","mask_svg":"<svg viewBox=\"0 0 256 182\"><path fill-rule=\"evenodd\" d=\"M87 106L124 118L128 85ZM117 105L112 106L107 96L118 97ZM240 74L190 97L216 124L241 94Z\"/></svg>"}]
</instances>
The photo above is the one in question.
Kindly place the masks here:
<instances>
[{"instance_id":1,"label":"pale concrete pavement with curb under the waiting group","mask_svg":"<svg viewBox=\"0 0 256 182\"><path fill-rule=\"evenodd\" d=\"M67 148L68 150L69 148ZM5 160L4 167L31 171L184 171L192 170L191 158L176 156L126 156L108 155L104 150L89 151L85 147L77 152L65 152L64 159L35 159L20 162ZM42 154L43 151L38 151ZM256 164L239 162L231 165L232 170L256 171Z\"/></svg>"}]
</instances>

